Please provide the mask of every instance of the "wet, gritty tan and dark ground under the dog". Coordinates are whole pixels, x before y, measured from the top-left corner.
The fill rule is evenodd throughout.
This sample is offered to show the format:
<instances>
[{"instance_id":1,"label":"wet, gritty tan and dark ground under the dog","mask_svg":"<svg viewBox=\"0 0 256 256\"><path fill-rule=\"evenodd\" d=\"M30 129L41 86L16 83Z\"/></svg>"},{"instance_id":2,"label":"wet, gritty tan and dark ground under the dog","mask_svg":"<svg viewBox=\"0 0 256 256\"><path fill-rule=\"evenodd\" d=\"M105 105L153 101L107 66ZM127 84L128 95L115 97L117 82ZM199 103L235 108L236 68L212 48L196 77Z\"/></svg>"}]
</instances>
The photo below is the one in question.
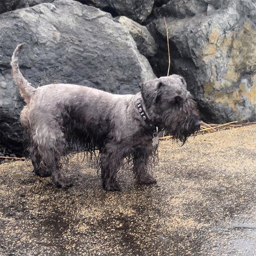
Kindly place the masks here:
<instances>
[{"instance_id":1,"label":"wet, gritty tan and dark ground under the dog","mask_svg":"<svg viewBox=\"0 0 256 256\"><path fill-rule=\"evenodd\" d=\"M161 141L159 156L156 185L122 172L122 192L76 157L67 190L0 165L0 255L256 255L256 127Z\"/></svg>"}]
</instances>

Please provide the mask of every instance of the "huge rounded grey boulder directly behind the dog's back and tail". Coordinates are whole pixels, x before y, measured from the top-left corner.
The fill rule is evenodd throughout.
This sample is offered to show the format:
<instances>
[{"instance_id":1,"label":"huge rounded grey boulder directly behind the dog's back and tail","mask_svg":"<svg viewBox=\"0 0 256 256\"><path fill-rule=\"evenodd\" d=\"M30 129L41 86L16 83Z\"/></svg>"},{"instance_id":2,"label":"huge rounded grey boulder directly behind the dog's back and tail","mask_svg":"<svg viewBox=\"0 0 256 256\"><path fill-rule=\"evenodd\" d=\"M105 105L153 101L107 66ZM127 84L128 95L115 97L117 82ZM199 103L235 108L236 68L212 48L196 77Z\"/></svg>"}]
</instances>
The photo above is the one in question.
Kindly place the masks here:
<instances>
[{"instance_id":1,"label":"huge rounded grey boulder directly behind the dog's back and tail","mask_svg":"<svg viewBox=\"0 0 256 256\"><path fill-rule=\"evenodd\" d=\"M38 87L52 82L88 85L112 93L136 93L155 78L128 29L110 14L72 0L18 9L0 19L0 137L12 149L22 147L19 113L24 106L9 62L18 43L24 77ZM4 85L4 84L2 84ZM14 152L15 153L15 152Z\"/></svg>"}]
</instances>

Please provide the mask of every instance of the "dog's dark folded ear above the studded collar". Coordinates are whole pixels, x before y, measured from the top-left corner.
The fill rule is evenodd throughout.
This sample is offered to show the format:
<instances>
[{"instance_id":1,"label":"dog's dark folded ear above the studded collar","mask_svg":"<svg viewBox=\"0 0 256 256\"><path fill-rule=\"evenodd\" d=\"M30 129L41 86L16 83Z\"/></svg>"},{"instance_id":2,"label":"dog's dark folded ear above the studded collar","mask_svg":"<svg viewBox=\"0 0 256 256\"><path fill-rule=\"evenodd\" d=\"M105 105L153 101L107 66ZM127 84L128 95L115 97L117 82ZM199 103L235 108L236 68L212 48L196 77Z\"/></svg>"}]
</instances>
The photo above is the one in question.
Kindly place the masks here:
<instances>
[{"instance_id":1,"label":"dog's dark folded ear above the studded collar","mask_svg":"<svg viewBox=\"0 0 256 256\"><path fill-rule=\"evenodd\" d=\"M157 79L145 82L145 84L140 85L140 91L146 108L150 108L152 105L154 105L159 93L159 88L163 85L164 84Z\"/></svg>"}]
</instances>

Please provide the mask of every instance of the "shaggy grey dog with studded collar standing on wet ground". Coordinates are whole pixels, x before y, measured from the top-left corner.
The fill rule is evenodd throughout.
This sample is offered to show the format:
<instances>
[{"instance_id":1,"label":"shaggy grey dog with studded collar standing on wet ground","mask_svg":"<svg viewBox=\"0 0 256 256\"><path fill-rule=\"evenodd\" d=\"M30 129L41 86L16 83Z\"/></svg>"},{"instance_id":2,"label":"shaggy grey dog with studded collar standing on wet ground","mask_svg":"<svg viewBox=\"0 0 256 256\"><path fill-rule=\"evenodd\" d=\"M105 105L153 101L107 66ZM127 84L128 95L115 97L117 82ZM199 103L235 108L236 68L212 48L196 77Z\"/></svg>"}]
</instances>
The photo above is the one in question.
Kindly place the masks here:
<instances>
[{"instance_id":1,"label":"shaggy grey dog with studded collar standing on wet ground","mask_svg":"<svg viewBox=\"0 0 256 256\"><path fill-rule=\"evenodd\" d=\"M16 47L11 60L12 75L27 104L20 121L29 136L35 174L50 176L58 187L71 185L61 168L63 156L74 148L87 152L106 190L120 190L116 175L125 159L138 183L156 183L150 170L158 162L158 131L164 129L185 143L200 127L196 104L179 75L145 82L135 95L74 84L34 88L18 66L24 45Z\"/></svg>"}]
</instances>

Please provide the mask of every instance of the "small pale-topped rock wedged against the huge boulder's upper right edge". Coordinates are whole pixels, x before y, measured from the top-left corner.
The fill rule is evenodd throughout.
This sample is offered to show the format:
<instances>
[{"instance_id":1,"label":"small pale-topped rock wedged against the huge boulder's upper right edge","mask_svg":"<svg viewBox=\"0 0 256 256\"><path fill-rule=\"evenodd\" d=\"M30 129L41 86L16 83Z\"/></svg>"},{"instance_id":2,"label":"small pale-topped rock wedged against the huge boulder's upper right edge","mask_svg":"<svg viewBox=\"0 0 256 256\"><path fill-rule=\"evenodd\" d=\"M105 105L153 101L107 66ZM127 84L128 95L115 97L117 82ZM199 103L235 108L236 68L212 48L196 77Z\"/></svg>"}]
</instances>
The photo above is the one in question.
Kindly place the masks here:
<instances>
[{"instance_id":1,"label":"small pale-topped rock wedged against the huge boulder's upper right edge","mask_svg":"<svg viewBox=\"0 0 256 256\"><path fill-rule=\"evenodd\" d=\"M120 16L117 20L127 27L141 54L144 56L153 56L156 53L157 44L145 26L125 16Z\"/></svg>"}]
</instances>

